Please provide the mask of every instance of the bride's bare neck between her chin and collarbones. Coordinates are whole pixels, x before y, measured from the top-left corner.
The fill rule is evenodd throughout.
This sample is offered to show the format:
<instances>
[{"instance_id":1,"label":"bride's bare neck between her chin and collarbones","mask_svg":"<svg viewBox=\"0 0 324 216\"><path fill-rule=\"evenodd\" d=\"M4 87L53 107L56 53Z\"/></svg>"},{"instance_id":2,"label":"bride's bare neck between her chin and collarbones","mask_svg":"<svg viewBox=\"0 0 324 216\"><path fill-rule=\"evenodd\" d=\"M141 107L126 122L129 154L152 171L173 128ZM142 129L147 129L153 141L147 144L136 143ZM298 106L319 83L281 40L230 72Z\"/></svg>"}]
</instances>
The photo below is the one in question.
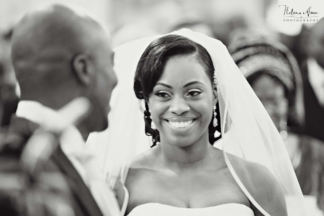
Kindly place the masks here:
<instances>
[{"instance_id":1,"label":"bride's bare neck between her chin and collarbones","mask_svg":"<svg viewBox=\"0 0 324 216\"><path fill-rule=\"evenodd\" d=\"M196 143L187 147L179 147L161 140L158 145L163 162L170 168L186 169L200 167L210 163L214 158L208 136L201 137Z\"/></svg>"}]
</instances>

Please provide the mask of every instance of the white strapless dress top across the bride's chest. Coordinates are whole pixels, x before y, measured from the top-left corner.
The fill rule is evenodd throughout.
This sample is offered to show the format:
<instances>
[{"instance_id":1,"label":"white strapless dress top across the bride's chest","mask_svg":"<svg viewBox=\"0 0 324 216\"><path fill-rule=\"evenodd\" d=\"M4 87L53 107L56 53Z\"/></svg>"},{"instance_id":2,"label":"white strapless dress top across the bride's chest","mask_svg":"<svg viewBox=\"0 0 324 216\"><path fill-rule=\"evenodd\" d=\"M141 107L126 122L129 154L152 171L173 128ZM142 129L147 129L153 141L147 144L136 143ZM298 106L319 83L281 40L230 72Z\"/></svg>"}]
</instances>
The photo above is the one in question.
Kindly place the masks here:
<instances>
[{"instance_id":1,"label":"white strapless dress top across the bride's chest","mask_svg":"<svg viewBox=\"0 0 324 216\"><path fill-rule=\"evenodd\" d=\"M228 203L206 208L180 208L160 203L136 206L128 216L255 216L251 208L238 203Z\"/></svg>"}]
</instances>

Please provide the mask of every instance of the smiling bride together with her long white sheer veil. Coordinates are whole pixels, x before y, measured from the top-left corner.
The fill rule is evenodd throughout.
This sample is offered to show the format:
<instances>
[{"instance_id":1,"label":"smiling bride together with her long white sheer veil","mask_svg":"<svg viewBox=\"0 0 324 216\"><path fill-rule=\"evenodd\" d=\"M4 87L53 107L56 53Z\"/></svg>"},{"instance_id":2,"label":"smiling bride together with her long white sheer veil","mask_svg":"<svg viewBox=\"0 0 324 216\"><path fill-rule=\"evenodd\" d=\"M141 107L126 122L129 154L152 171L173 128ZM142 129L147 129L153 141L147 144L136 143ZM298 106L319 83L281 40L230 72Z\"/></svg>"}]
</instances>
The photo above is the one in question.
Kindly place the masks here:
<instances>
[{"instance_id":1,"label":"smiling bride together with her long white sheer veil","mask_svg":"<svg viewBox=\"0 0 324 216\"><path fill-rule=\"evenodd\" d=\"M126 214L306 215L284 144L220 41L184 29L132 41L115 49L115 57L117 74L136 71L145 126L133 111L134 93L120 85L106 138L127 145L128 153L111 153L119 156L109 156L108 164L147 143L144 127L152 136L152 148L130 165L114 161L123 163L122 182L128 170ZM125 117L113 116L125 106ZM105 171L111 181L119 169L106 165Z\"/></svg>"}]
</instances>

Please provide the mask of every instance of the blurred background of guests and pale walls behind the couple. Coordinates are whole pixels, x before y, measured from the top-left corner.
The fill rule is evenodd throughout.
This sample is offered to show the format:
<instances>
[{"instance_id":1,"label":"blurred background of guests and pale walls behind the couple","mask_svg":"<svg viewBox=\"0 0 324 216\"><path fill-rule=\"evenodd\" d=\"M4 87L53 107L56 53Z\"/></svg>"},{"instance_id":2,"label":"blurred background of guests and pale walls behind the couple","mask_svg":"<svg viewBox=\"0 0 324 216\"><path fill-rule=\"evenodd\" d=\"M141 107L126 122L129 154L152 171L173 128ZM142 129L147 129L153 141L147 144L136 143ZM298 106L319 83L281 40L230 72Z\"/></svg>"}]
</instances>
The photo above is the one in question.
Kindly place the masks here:
<instances>
[{"instance_id":1,"label":"blurred background of guests and pale walls behind the couple","mask_svg":"<svg viewBox=\"0 0 324 216\"><path fill-rule=\"evenodd\" d=\"M221 40L284 139L310 215L323 215L319 210L324 209L322 0L1 1L0 139L19 101L10 62L12 29L28 11L53 3L94 17L110 32L113 47L181 28ZM294 15L292 10L302 13Z\"/></svg>"}]
</instances>

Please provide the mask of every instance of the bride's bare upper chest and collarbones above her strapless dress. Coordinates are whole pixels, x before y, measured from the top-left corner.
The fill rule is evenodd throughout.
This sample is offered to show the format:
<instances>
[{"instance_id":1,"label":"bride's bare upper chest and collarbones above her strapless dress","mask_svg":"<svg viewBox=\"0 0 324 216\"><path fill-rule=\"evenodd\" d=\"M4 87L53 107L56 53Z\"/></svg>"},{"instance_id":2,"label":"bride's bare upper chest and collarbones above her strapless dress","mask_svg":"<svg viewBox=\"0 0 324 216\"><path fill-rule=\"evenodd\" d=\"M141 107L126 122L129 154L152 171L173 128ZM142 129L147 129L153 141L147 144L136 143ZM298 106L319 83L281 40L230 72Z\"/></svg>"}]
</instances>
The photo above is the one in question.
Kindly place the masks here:
<instances>
[{"instance_id":1,"label":"bride's bare upper chest and collarbones above her strapless dress","mask_svg":"<svg viewBox=\"0 0 324 216\"><path fill-rule=\"evenodd\" d=\"M185 170L172 170L163 162L142 155L130 168L126 187L130 193L128 211L145 203L201 208L250 201L236 184L225 161L218 157L210 164ZM143 157L144 156L144 157ZM217 157L216 157L217 156Z\"/></svg>"}]
</instances>

